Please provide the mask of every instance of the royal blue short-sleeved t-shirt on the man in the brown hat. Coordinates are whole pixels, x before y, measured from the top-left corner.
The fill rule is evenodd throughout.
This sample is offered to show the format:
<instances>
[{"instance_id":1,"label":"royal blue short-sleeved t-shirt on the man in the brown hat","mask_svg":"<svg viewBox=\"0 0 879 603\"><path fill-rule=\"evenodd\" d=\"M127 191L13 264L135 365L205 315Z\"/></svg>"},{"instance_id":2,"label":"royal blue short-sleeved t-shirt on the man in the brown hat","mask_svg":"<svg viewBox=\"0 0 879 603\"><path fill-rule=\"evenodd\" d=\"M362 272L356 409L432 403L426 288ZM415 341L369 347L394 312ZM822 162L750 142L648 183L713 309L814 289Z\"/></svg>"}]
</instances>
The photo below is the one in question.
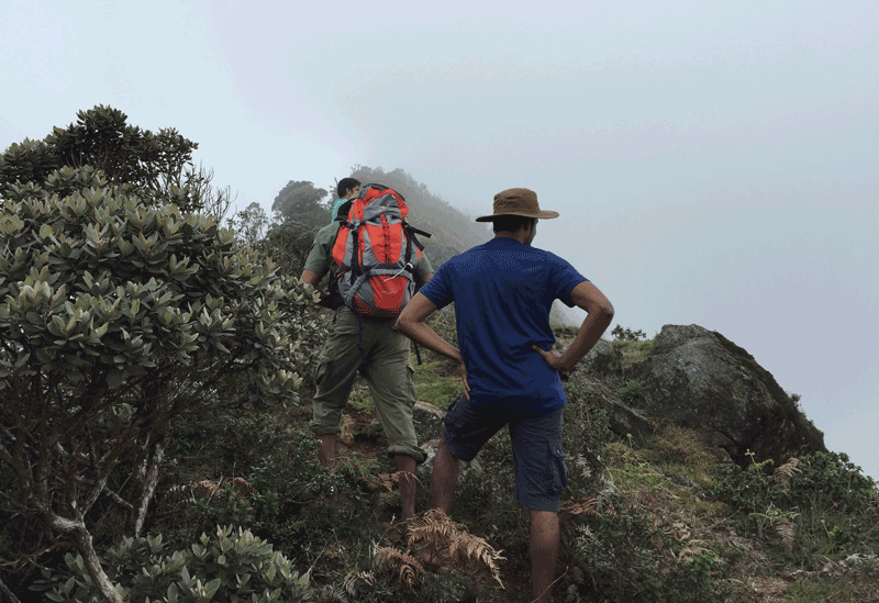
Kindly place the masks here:
<instances>
[{"instance_id":1,"label":"royal blue short-sleeved t-shirt on the man in the brown hat","mask_svg":"<svg viewBox=\"0 0 879 603\"><path fill-rule=\"evenodd\" d=\"M565 405L558 372L531 346L555 344L553 301L572 306L570 292L585 280L549 252L496 237L443 264L421 288L437 308L455 302L474 404L502 403L509 412L535 415Z\"/></svg>"}]
</instances>

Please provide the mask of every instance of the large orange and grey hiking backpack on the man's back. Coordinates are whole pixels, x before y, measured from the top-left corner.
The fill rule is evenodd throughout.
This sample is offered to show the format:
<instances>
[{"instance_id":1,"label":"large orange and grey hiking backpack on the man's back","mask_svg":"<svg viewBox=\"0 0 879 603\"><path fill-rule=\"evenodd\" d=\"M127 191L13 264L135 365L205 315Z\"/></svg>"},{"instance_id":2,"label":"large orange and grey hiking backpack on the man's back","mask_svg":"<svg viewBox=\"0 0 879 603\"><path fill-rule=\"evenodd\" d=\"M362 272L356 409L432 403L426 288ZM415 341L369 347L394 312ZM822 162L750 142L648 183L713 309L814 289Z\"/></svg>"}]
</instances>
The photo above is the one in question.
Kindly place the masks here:
<instances>
[{"instance_id":1,"label":"large orange and grey hiking backpack on the man's back","mask_svg":"<svg viewBox=\"0 0 879 603\"><path fill-rule=\"evenodd\" d=\"M342 222L333 260L336 287L345 305L365 316L392 319L415 292L414 267L424 246L407 221L409 206L399 192L382 185L363 185L348 220Z\"/></svg>"}]
</instances>

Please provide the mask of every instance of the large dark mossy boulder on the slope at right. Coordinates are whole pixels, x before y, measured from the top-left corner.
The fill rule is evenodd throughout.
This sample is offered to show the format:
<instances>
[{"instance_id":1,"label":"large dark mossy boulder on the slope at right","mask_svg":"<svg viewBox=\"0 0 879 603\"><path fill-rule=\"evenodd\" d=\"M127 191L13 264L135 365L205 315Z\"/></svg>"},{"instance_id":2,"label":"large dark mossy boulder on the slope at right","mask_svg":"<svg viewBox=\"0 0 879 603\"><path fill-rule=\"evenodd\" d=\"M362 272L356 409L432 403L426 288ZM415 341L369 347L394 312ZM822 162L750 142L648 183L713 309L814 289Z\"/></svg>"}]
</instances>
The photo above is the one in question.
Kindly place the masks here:
<instances>
[{"instance_id":1,"label":"large dark mossy boulder on the slope at right","mask_svg":"<svg viewBox=\"0 0 879 603\"><path fill-rule=\"evenodd\" d=\"M649 393L646 414L703 433L739 465L826 451L823 434L747 351L701 326L666 325L628 367Z\"/></svg>"}]
</instances>

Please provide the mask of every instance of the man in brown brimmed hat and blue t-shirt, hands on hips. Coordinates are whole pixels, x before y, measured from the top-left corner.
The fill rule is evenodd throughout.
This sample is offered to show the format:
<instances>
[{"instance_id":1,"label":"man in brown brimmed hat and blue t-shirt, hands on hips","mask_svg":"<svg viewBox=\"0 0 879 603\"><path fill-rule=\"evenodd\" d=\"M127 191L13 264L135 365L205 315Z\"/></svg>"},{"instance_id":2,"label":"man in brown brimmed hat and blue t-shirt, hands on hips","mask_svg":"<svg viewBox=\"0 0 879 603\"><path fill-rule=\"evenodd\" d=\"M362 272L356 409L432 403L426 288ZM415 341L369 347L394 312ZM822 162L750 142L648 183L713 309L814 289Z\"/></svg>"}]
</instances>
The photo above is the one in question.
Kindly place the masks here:
<instances>
[{"instance_id":1,"label":"man in brown brimmed hat and blue t-shirt, hands on hips","mask_svg":"<svg viewBox=\"0 0 879 603\"><path fill-rule=\"evenodd\" d=\"M566 402L559 372L592 348L613 317L613 306L594 284L560 257L532 247L541 211L528 189L494 196L494 238L445 263L415 294L397 328L460 368L464 394L449 406L433 465L433 506L452 510L460 460L469 461L509 426L515 496L531 512L534 600L549 601L558 557L558 498L567 482L561 448ZM587 312L574 344L553 349L554 300ZM427 324L436 310L455 302L456 348Z\"/></svg>"}]
</instances>

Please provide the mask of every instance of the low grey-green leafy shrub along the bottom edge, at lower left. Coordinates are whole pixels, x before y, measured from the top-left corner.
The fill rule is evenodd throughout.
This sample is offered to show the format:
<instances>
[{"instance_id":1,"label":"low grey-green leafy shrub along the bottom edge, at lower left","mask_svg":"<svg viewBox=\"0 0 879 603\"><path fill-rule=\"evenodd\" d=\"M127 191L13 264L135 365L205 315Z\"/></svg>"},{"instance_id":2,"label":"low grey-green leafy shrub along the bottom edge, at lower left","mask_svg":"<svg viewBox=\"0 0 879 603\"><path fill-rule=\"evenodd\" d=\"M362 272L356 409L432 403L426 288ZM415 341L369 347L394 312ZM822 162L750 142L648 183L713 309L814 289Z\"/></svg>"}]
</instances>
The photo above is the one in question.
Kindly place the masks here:
<instances>
[{"instance_id":1,"label":"low grey-green leafy shrub along the bottom edge, at lower left","mask_svg":"<svg viewBox=\"0 0 879 603\"><path fill-rule=\"evenodd\" d=\"M249 531L218 527L189 547L168 551L160 535L125 538L104 555L107 573L129 603L307 603L309 573L300 573L272 545ZM68 554L67 571L42 588L56 602L101 601L82 558Z\"/></svg>"}]
</instances>

